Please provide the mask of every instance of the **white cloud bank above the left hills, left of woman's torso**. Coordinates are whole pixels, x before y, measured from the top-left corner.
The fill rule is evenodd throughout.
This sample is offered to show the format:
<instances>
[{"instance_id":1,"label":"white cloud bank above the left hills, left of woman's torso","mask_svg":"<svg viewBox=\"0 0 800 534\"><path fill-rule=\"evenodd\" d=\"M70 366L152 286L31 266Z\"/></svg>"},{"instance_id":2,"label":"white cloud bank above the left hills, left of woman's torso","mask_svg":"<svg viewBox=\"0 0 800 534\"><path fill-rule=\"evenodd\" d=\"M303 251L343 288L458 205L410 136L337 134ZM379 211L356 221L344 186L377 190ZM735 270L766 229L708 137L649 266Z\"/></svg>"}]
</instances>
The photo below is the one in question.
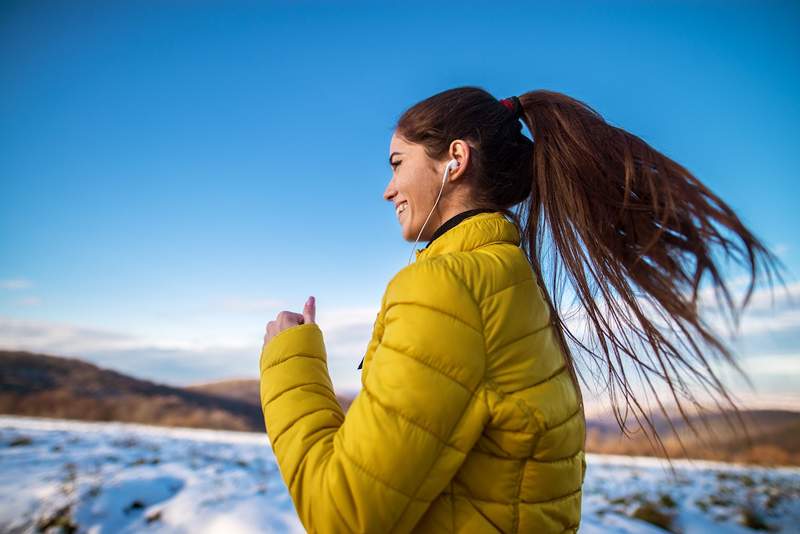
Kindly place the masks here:
<instances>
[{"instance_id":1,"label":"white cloud bank above the left hills, left of woman's torso","mask_svg":"<svg viewBox=\"0 0 800 534\"><path fill-rule=\"evenodd\" d=\"M377 312L376 308L355 307L317 315L337 391L360 385L356 367L366 351ZM263 330L233 336L200 330L189 338L153 337L0 316L0 348L80 358L136 377L174 384L258 377Z\"/></svg>"}]
</instances>

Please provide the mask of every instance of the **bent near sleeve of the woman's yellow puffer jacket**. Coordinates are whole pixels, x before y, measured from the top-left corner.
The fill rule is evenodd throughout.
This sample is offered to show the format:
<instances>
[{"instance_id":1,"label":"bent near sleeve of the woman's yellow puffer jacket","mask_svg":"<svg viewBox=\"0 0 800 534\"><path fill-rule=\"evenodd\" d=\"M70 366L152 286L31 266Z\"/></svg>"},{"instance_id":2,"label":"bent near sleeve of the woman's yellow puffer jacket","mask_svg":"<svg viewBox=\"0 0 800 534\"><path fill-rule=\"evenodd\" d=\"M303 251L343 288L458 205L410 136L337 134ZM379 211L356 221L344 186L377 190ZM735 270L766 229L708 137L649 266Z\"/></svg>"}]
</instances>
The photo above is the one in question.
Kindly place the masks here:
<instances>
[{"instance_id":1,"label":"bent near sleeve of the woman's yellow puffer jacket","mask_svg":"<svg viewBox=\"0 0 800 534\"><path fill-rule=\"evenodd\" d=\"M383 335L346 417L317 325L284 330L262 350L267 434L309 532L409 532L488 420L481 315L462 282L444 265L412 264L382 309Z\"/></svg>"}]
</instances>

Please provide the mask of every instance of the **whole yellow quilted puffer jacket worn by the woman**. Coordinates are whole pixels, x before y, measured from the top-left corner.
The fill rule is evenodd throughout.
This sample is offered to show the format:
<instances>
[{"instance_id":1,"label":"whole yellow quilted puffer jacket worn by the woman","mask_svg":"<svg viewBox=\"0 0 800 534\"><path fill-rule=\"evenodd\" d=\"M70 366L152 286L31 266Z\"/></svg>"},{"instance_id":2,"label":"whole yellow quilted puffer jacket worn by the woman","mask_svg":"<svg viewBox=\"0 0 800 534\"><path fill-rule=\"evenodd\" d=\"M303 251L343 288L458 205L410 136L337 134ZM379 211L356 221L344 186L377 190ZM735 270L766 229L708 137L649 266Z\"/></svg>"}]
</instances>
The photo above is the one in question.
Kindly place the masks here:
<instances>
[{"instance_id":1,"label":"whole yellow quilted puffer jacket worn by the woman","mask_svg":"<svg viewBox=\"0 0 800 534\"><path fill-rule=\"evenodd\" d=\"M389 282L345 417L316 324L261 352L261 404L309 532L575 532L585 419L550 314L499 212Z\"/></svg>"}]
</instances>

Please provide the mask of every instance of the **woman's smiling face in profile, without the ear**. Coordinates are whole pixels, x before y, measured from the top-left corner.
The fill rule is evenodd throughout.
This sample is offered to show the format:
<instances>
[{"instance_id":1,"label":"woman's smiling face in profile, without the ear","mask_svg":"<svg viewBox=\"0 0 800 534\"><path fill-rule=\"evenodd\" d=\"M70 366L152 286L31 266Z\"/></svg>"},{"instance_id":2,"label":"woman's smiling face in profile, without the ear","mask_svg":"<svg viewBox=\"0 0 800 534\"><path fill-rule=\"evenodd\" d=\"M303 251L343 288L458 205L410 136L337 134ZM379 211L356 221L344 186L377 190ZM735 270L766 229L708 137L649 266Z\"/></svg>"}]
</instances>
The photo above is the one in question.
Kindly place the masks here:
<instances>
[{"instance_id":1,"label":"woman's smiling face in profile, without the ear","mask_svg":"<svg viewBox=\"0 0 800 534\"><path fill-rule=\"evenodd\" d=\"M389 145L389 162L392 179L383 192L383 198L394 205L403 239L414 241L439 196L446 162L432 160L425 154L422 145L408 143L396 132ZM430 236L443 222L441 215L447 189L448 185L445 185L436 210L425 224L425 231L420 236L422 241L429 241Z\"/></svg>"}]
</instances>

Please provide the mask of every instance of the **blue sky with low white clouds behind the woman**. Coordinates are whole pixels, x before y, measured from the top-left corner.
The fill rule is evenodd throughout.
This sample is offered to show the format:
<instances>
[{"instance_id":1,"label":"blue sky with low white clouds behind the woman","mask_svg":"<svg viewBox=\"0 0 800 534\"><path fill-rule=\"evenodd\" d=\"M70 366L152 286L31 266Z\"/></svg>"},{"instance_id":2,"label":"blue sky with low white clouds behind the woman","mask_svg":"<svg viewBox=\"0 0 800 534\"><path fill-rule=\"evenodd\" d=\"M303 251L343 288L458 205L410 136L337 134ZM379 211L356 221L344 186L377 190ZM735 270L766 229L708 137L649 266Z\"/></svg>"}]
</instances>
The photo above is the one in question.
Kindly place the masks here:
<instances>
[{"instance_id":1,"label":"blue sky with low white clouds behind the woman","mask_svg":"<svg viewBox=\"0 0 800 534\"><path fill-rule=\"evenodd\" d=\"M794 275L799 25L794 2L4 2L0 347L256 377L266 323L313 294L357 388L412 246L382 198L392 126L462 85L583 100ZM761 313L741 355L791 396L798 311Z\"/></svg>"}]
</instances>

